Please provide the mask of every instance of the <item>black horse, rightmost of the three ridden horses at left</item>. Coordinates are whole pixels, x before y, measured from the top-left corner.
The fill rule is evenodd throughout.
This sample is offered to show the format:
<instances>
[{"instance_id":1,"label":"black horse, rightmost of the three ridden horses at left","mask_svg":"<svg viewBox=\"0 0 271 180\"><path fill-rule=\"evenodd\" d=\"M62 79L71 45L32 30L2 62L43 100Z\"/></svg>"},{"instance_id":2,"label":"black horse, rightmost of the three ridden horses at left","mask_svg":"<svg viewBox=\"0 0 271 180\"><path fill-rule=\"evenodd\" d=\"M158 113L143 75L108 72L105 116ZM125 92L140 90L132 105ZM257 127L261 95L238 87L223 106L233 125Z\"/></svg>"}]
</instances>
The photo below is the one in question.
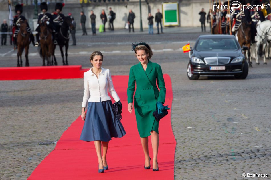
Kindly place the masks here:
<instances>
[{"instance_id":1,"label":"black horse, rightmost of the three ridden horses at left","mask_svg":"<svg viewBox=\"0 0 271 180\"><path fill-rule=\"evenodd\" d=\"M61 56L62 56L62 61L63 65L69 65L68 64L68 47L69 47L69 29L73 28L72 25L72 19L67 16L65 17L58 33L56 36L56 41L57 44L59 45L60 51L61 51ZM65 46L65 55L66 55L66 63L64 61L64 53L63 53L63 46ZM56 45L54 45L54 49L56 48ZM54 56L54 61L56 62L56 57Z\"/></svg>"}]
</instances>

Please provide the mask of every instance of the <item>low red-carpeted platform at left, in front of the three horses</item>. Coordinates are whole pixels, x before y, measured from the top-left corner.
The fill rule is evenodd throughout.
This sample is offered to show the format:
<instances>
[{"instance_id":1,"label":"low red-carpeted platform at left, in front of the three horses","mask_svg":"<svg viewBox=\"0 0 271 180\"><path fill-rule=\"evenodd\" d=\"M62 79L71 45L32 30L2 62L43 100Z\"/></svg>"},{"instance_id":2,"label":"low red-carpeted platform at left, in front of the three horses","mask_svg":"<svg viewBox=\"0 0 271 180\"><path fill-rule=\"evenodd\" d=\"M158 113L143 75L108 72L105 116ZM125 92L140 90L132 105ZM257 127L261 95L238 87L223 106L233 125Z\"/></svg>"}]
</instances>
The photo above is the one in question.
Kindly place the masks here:
<instances>
[{"instance_id":1,"label":"low red-carpeted platform at left, in front of the three horses","mask_svg":"<svg viewBox=\"0 0 271 180\"><path fill-rule=\"evenodd\" d=\"M82 78L88 69L73 66L1 67L0 80L72 79Z\"/></svg>"}]
</instances>

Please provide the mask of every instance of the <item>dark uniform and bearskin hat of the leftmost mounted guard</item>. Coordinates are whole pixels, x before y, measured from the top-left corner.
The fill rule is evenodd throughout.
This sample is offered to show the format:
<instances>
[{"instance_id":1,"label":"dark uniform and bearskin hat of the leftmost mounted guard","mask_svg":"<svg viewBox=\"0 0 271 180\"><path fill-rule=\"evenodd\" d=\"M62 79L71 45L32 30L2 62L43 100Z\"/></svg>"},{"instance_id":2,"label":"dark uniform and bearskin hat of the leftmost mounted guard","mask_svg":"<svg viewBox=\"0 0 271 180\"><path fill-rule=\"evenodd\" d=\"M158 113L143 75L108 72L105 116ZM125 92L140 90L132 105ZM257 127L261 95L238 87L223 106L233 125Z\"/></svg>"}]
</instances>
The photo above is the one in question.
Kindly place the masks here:
<instances>
[{"instance_id":1,"label":"dark uniform and bearskin hat of the leftmost mounted guard","mask_svg":"<svg viewBox=\"0 0 271 180\"><path fill-rule=\"evenodd\" d=\"M18 14L17 11L20 11L20 13ZM23 5L21 5L21 4L15 5L15 13L17 15L13 16L13 28L12 28L12 32L13 32L13 37L14 37L14 44L15 44L15 46L17 48L17 36L19 34L19 31L20 31L20 28L19 28L20 21L21 20L23 20L23 21L26 20L25 16L22 15L22 13L23 13ZM32 44L35 45L34 36L32 34L32 31L31 31L31 29L29 27L28 22L26 22L26 23L27 23L26 30L27 30L27 32L30 33L30 40L31 40Z\"/></svg>"}]
</instances>

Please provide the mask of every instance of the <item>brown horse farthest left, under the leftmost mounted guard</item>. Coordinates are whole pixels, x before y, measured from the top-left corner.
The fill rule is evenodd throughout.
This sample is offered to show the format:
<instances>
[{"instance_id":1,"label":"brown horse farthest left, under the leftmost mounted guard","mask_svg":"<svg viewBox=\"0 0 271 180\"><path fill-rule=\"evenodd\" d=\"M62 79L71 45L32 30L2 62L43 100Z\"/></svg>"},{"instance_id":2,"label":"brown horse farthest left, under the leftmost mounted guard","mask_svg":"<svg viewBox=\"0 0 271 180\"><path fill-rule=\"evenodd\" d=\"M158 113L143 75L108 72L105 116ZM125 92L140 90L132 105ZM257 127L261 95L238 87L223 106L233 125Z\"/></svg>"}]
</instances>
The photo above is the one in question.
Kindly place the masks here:
<instances>
[{"instance_id":1,"label":"brown horse farthest left, under the leftmost mounted guard","mask_svg":"<svg viewBox=\"0 0 271 180\"><path fill-rule=\"evenodd\" d=\"M17 36L17 44L18 44L18 51L17 51L17 66L23 66L23 61L22 61L22 53L23 49L25 49L25 66L29 66L29 61L28 61L28 49L29 49L29 44L31 42L30 40L30 33L27 32L27 20L21 20L19 22L19 33ZM20 57L20 61L19 61Z\"/></svg>"}]
</instances>

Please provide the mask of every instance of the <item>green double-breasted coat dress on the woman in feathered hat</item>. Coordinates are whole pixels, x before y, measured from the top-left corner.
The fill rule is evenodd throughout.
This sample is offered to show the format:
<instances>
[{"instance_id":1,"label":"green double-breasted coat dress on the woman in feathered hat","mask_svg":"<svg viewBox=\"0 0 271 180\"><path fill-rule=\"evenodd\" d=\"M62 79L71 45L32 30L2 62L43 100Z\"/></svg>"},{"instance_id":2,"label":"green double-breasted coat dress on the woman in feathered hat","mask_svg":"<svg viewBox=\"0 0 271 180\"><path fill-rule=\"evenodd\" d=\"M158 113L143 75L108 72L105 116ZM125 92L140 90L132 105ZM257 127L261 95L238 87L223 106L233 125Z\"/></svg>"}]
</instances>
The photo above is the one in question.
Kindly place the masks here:
<instances>
[{"instance_id":1,"label":"green double-breasted coat dress on the woman in feathered hat","mask_svg":"<svg viewBox=\"0 0 271 180\"><path fill-rule=\"evenodd\" d=\"M156 86L156 80L160 92ZM136 85L136 93L134 95ZM130 69L127 88L128 104L133 103L136 113L137 129L140 137L147 137L151 131L158 132L159 123L154 119L153 112L156 111L156 102L164 104L166 88L161 66L149 61L146 71L141 63Z\"/></svg>"}]
</instances>

